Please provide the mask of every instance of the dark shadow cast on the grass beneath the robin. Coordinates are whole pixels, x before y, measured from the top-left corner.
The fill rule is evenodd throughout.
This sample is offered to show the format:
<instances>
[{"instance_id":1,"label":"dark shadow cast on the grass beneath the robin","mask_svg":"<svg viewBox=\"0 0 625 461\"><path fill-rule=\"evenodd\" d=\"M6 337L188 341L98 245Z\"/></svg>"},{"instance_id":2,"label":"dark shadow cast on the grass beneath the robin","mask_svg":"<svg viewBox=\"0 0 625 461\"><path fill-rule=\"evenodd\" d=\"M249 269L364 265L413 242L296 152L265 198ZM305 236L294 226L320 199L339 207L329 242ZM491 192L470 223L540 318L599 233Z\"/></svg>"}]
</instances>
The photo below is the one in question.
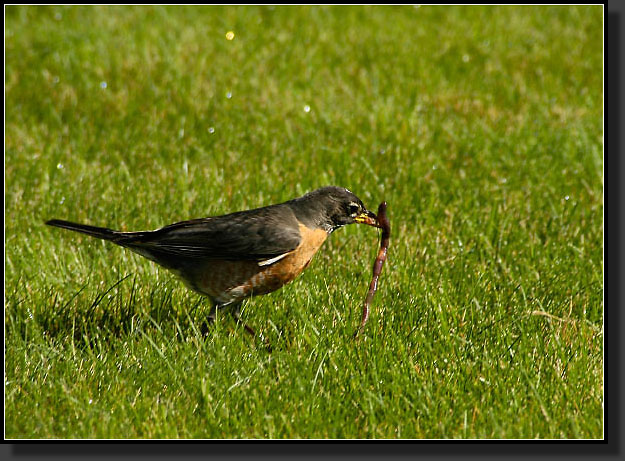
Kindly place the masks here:
<instances>
[{"instance_id":1,"label":"dark shadow cast on the grass beneath the robin","mask_svg":"<svg viewBox=\"0 0 625 461\"><path fill-rule=\"evenodd\" d=\"M97 290L93 290L93 281L87 281L69 298L50 288L39 309L14 302L5 332L23 341L32 341L37 335L53 343L71 341L73 347L85 350L93 349L102 340L138 335L206 342L221 334L249 337L266 350L273 349L276 338L272 344L260 333L252 338L245 324L238 323L227 312L210 318L211 304L205 297L189 292L180 300L173 282L157 283L139 294L137 283L133 274ZM274 333L278 339L284 337L282 331Z\"/></svg>"}]
</instances>

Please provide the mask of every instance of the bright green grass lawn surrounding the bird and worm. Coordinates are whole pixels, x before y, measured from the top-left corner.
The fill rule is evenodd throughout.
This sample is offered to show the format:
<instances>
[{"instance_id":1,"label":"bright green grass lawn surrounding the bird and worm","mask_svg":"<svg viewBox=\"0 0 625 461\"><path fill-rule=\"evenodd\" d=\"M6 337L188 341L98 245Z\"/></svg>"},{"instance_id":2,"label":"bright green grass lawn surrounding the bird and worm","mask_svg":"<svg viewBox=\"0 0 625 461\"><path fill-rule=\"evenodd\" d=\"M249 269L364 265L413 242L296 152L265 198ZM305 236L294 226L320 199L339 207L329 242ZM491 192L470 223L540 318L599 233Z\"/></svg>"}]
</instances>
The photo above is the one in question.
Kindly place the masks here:
<instances>
[{"instance_id":1,"label":"bright green grass lawn surrounding the bird and worm","mask_svg":"<svg viewBox=\"0 0 625 461\"><path fill-rule=\"evenodd\" d=\"M5 11L7 438L603 437L601 6ZM43 224L328 184L389 203L371 318L350 226L245 303L271 354Z\"/></svg>"}]
</instances>

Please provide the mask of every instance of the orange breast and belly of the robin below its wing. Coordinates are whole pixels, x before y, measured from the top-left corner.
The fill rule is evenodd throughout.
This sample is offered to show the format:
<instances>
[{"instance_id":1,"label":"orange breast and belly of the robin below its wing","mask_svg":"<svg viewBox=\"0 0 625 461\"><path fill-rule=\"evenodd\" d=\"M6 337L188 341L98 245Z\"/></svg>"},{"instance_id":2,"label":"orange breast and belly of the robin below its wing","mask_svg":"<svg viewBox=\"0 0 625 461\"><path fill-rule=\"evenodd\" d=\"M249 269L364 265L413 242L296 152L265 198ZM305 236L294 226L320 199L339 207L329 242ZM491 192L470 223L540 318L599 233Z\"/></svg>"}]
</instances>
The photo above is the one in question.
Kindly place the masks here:
<instances>
[{"instance_id":1,"label":"orange breast and belly of the robin below its wing","mask_svg":"<svg viewBox=\"0 0 625 461\"><path fill-rule=\"evenodd\" d=\"M324 230L302 224L300 235L299 246L269 266L259 266L256 261L210 261L190 286L217 303L271 293L295 279L328 237Z\"/></svg>"}]
</instances>

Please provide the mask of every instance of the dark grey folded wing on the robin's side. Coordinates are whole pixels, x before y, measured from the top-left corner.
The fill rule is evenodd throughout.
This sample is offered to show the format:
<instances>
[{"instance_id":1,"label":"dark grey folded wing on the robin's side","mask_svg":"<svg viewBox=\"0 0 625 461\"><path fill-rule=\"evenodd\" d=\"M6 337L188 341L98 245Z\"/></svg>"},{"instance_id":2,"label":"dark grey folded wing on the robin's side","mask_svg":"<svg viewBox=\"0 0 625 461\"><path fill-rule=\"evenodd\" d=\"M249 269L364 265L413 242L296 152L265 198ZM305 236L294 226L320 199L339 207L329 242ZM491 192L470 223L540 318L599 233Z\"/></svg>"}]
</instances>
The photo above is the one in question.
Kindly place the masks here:
<instances>
[{"instance_id":1,"label":"dark grey folded wing on the robin's side","mask_svg":"<svg viewBox=\"0 0 625 461\"><path fill-rule=\"evenodd\" d=\"M301 240L289 207L270 206L213 218L194 219L152 232L124 233L116 243L150 259L252 260L271 264ZM147 253L147 254L146 254ZM268 262L269 261L269 262Z\"/></svg>"}]
</instances>

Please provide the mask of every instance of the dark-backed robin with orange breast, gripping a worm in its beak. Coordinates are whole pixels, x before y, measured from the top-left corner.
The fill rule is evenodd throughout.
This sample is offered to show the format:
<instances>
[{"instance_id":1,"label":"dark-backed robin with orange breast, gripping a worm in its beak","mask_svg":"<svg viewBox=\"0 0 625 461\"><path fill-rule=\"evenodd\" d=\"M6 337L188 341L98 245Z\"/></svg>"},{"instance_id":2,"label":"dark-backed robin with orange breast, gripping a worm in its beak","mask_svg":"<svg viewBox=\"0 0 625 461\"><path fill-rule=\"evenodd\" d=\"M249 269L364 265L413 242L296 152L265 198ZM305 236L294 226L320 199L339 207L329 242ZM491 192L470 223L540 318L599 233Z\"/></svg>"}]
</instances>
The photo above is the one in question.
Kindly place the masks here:
<instances>
[{"instance_id":1,"label":"dark-backed robin with orange breast, gripping a worm in its beak","mask_svg":"<svg viewBox=\"0 0 625 461\"><path fill-rule=\"evenodd\" d=\"M376 215L356 195L336 186L276 205L182 221L154 231L120 232L58 219L46 222L109 240L154 261L212 300L209 320L227 308L237 322L245 298L271 293L291 282L328 235L353 223L379 227Z\"/></svg>"}]
</instances>

